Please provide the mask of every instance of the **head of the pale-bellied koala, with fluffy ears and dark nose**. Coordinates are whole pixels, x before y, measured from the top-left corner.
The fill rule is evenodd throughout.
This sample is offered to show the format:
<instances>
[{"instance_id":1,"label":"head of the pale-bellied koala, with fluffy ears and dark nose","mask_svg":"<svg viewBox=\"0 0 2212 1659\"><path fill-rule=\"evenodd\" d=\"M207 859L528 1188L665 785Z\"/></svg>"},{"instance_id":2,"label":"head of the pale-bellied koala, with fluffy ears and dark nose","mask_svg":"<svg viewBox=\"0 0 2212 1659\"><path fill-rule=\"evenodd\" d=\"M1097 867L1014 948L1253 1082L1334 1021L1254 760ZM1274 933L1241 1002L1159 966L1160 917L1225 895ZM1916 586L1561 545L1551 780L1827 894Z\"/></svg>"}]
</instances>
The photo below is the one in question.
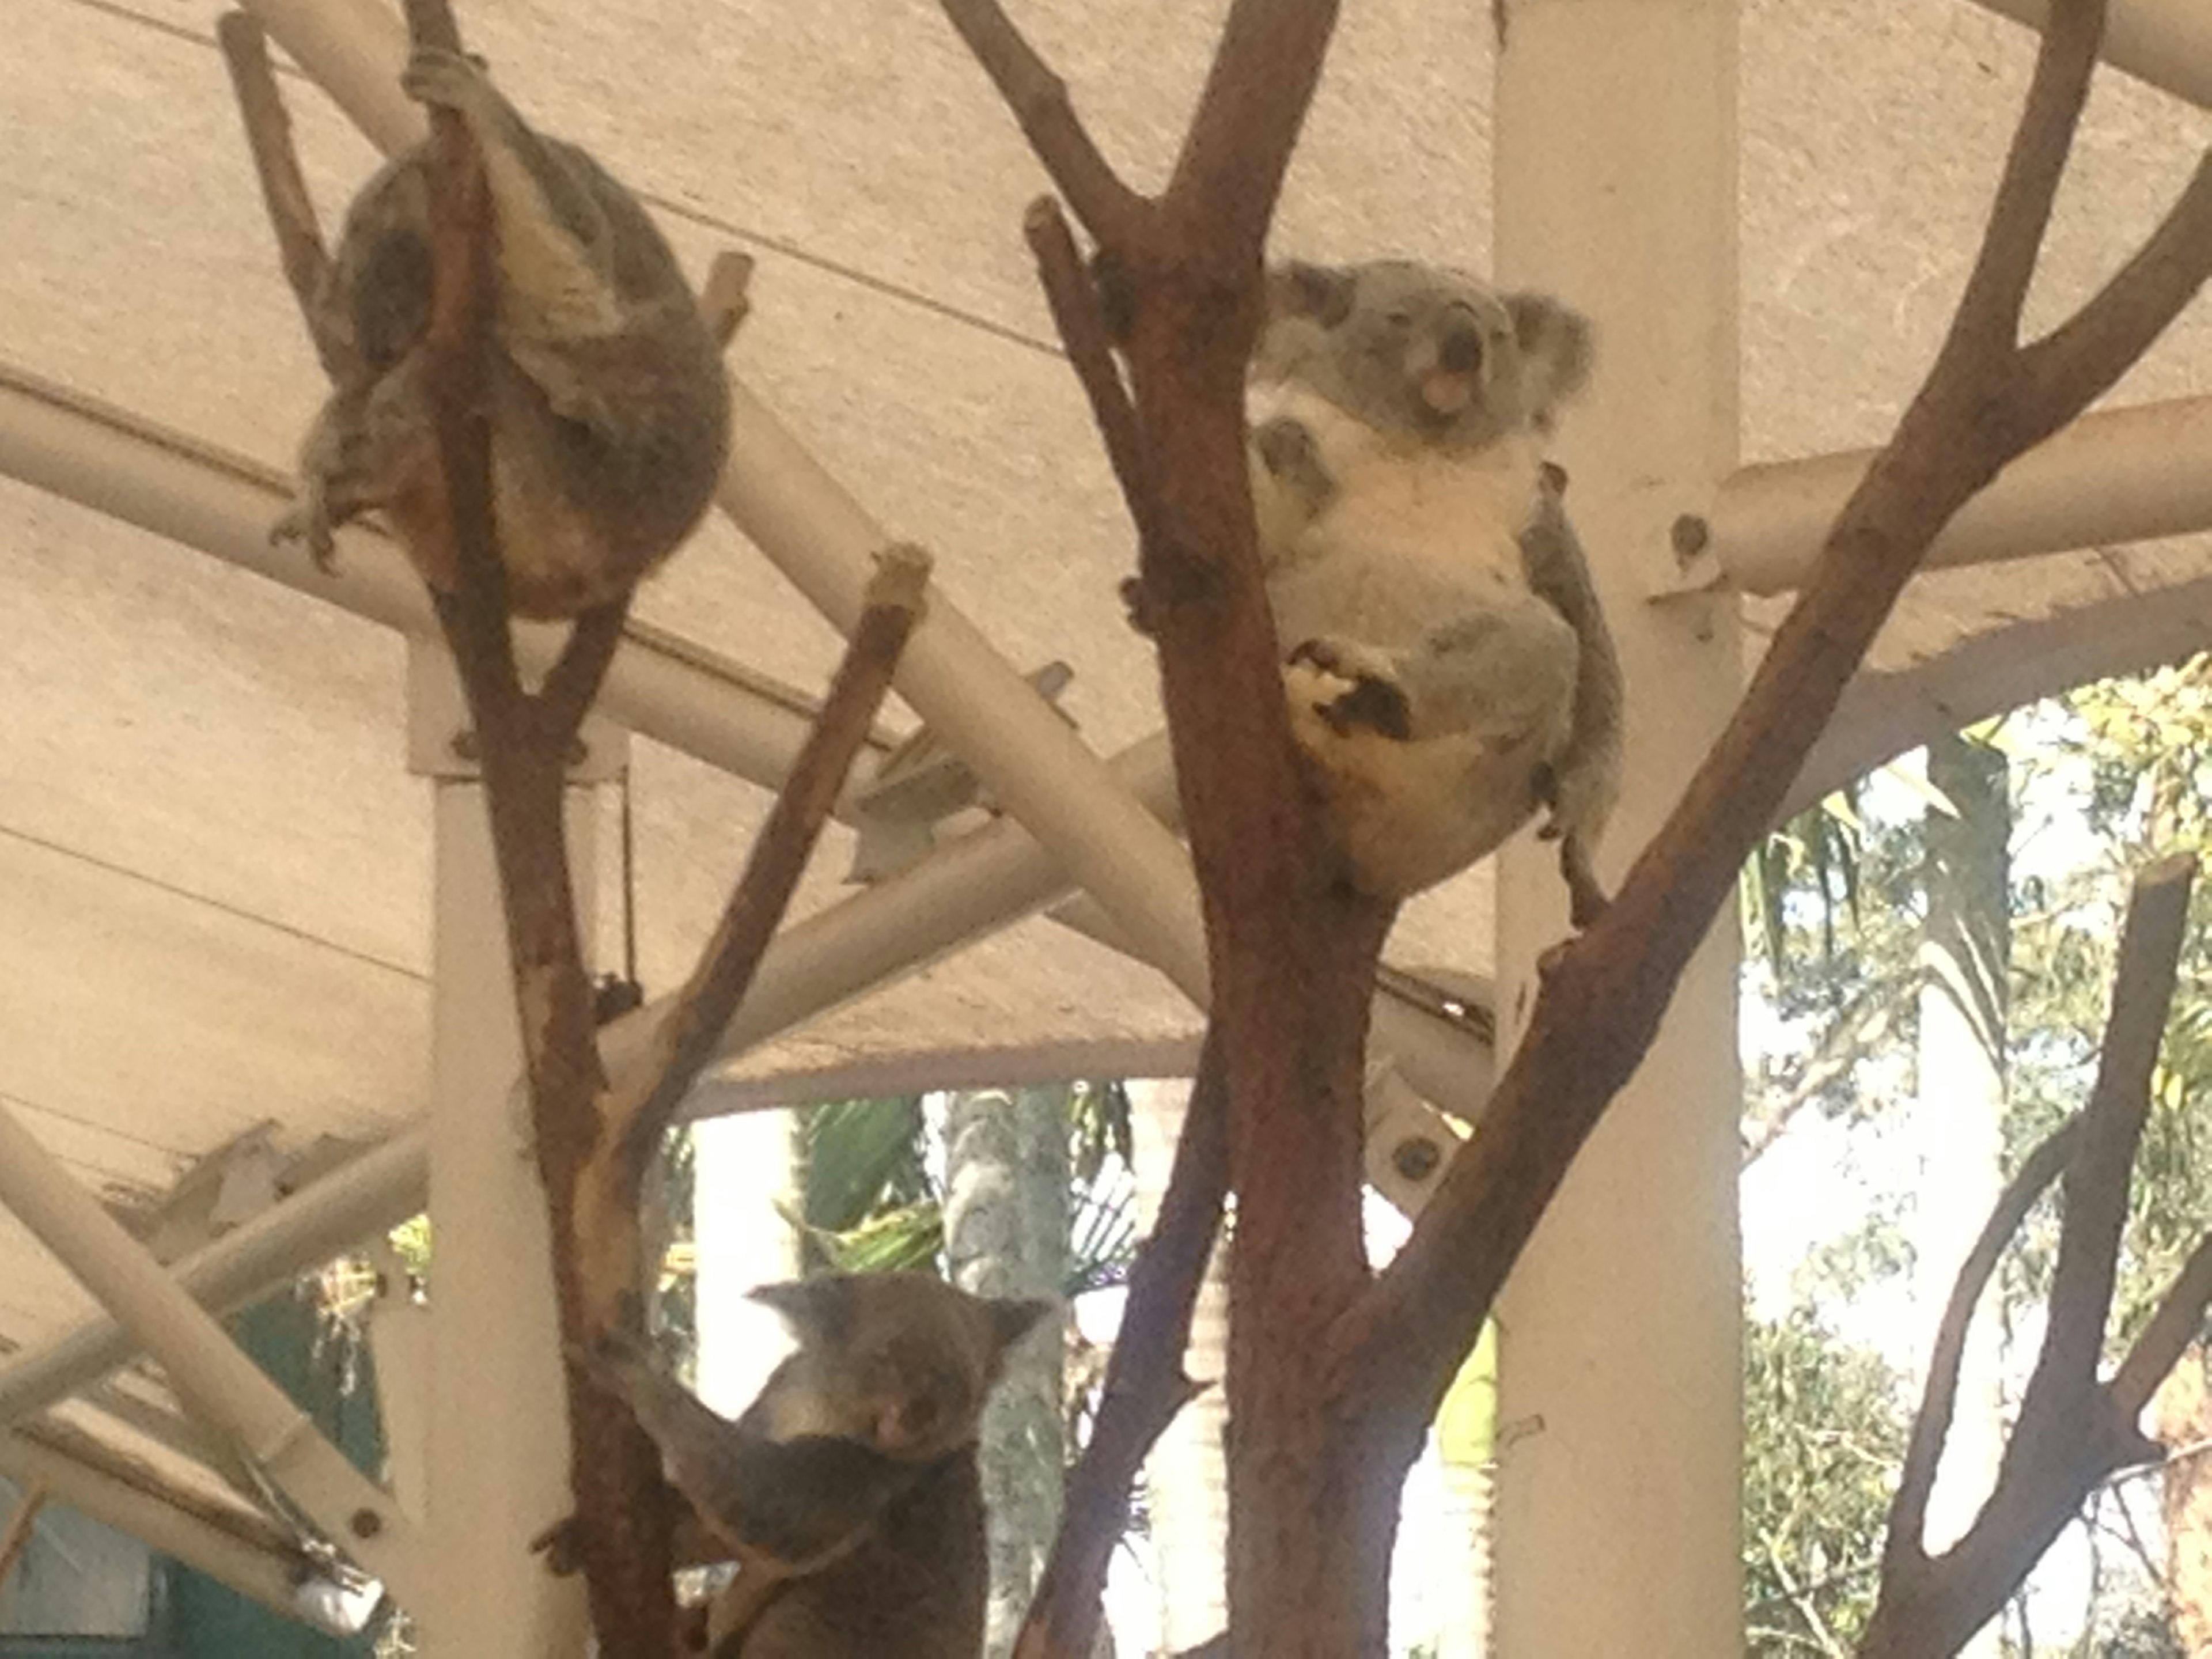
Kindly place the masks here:
<instances>
[{"instance_id":1,"label":"head of the pale-bellied koala, with fluffy ears and dark nose","mask_svg":"<svg viewBox=\"0 0 2212 1659\"><path fill-rule=\"evenodd\" d=\"M1438 265L1287 265L1267 281L1256 380L1298 380L1378 431L1478 449L1548 431L1590 367L1590 325L1544 294Z\"/></svg>"}]
</instances>

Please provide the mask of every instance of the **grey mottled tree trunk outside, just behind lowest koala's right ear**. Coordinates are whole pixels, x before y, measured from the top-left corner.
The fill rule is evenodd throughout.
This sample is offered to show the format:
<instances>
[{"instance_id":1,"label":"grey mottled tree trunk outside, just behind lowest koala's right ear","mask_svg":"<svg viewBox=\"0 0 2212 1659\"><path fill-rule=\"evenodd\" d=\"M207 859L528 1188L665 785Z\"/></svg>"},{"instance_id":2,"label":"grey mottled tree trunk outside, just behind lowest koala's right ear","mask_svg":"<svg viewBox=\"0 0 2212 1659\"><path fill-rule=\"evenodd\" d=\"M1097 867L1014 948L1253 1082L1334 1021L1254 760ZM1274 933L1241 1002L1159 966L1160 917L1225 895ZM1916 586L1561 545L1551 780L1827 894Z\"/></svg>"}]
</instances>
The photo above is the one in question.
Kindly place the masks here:
<instances>
[{"instance_id":1,"label":"grey mottled tree trunk outside, just behind lowest koala's right ear","mask_svg":"<svg viewBox=\"0 0 2212 1659\"><path fill-rule=\"evenodd\" d=\"M1068 1272L1068 1088L962 1093L945 1115L945 1254L978 1296L1060 1296ZM984 1652L1004 1659L1060 1531L1060 1321L1013 1349L982 1420L991 1517Z\"/></svg>"}]
</instances>

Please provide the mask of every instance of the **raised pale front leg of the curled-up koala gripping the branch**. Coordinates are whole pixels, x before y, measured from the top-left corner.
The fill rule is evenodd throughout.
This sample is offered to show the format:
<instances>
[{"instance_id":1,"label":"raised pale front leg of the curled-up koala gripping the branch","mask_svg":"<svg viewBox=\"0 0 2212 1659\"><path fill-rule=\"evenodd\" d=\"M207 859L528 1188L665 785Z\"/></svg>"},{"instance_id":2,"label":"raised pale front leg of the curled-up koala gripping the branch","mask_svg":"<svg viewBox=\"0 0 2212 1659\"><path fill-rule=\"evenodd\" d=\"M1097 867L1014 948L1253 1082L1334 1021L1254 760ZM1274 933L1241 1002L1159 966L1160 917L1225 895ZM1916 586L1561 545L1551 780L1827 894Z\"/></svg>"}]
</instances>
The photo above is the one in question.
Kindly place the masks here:
<instances>
[{"instance_id":1,"label":"raised pale front leg of the curled-up koala gripping the branch","mask_svg":"<svg viewBox=\"0 0 2212 1659\"><path fill-rule=\"evenodd\" d=\"M418 102L460 115L484 159L498 226L500 343L555 414L595 420L599 398L568 352L619 334L630 314L613 283L606 210L575 166L582 153L538 137L460 53L416 51L400 84Z\"/></svg>"}]
</instances>

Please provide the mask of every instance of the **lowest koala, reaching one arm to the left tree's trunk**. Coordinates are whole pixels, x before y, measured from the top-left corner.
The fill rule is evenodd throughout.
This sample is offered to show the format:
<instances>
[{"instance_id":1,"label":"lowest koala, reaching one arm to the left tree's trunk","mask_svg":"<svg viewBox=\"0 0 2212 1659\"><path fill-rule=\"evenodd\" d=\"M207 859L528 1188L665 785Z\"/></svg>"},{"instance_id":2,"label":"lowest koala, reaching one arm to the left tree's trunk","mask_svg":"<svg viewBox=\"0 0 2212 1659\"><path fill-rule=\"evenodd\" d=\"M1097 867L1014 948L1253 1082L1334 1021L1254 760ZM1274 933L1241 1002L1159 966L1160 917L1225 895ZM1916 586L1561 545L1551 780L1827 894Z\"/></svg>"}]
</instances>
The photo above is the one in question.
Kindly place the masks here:
<instances>
[{"instance_id":1,"label":"lowest koala, reaching one arm to the left tree's trunk","mask_svg":"<svg viewBox=\"0 0 2212 1659\"><path fill-rule=\"evenodd\" d=\"M975 1436L1006 1349L1048 1310L929 1274L754 1292L799 1338L737 1422L628 1338L580 1356L653 1436L739 1575L717 1659L975 1659L989 1559Z\"/></svg>"}]
</instances>

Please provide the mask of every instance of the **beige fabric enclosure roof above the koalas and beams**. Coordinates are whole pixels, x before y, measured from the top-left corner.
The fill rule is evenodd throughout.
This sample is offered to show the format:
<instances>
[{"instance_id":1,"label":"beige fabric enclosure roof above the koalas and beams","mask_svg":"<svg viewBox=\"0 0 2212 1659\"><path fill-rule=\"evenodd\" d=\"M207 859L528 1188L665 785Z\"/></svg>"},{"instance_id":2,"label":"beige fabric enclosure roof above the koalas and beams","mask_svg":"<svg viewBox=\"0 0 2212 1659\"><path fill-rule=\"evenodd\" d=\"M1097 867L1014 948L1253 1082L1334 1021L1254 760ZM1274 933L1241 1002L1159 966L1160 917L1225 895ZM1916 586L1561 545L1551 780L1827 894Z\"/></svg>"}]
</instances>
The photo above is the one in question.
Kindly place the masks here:
<instances>
[{"instance_id":1,"label":"beige fabric enclosure roof above the koalas and beams","mask_svg":"<svg viewBox=\"0 0 2212 1659\"><path fill-rule=\"evenodd\" d=\"M1075 668L1066 708L1095 748L1152 730L1152 664L1115 597L1128 524L1018 234L1042 177L938 11L460 11L518 104L650 192L692 272L723 248L759 259L737 372L885 524L938 553L945 588L1000 650L1024 670ZM1157 184L1223 0L1018 11L1115 161ZM215 18L215 0L7 7L0 361L283 467L321 383ZM1491 18L1464 0L1345 7L1283 250L1486 265ZM1960 0L1745 7L1745 458L1885 436L1958 292L2028 60L2026 33ZM330 219L372 150L303 80L285 91ZM2208 142L2203 113L2104 73L2035 312L2084 294ZM2208 369L2199 305L2115 398L2201 392ZM1911 675L1960 650L2004 659L2022 624L2075 639L2079 613L2115 599L2157 626L2112 653L2170 655L2203 637L2208 584L2194 540L1936 575L1876 668L1900 706L1973 714L1971 695ZM420 1115L431 841L429 792L405 765L400 637L13 482L0 482L0 595L7 1104L108 1188L159 1186L261 1119L369 1139ZM834 659L832 630L721 520L639 611L799 688ZM639 969L664 991L765 796L659 743L635 741L630 759ZM608 814L608 938L615 845ZM845 858L838 834L801 914L841 894ZM1394 956L1486 967L1486 894L1478 872L1422 900ZM962 1079L1018 1062L1141 1071L1186 1053L1192 1029L1157 973L1033 920L748 1071L832 1073L825 1091L929 1075L876 1066L900 1055L1000 1051L969 1057ZM82 1305L0 1221L0 1336L35 1340Z\"/></svg>"}]
</instances>

